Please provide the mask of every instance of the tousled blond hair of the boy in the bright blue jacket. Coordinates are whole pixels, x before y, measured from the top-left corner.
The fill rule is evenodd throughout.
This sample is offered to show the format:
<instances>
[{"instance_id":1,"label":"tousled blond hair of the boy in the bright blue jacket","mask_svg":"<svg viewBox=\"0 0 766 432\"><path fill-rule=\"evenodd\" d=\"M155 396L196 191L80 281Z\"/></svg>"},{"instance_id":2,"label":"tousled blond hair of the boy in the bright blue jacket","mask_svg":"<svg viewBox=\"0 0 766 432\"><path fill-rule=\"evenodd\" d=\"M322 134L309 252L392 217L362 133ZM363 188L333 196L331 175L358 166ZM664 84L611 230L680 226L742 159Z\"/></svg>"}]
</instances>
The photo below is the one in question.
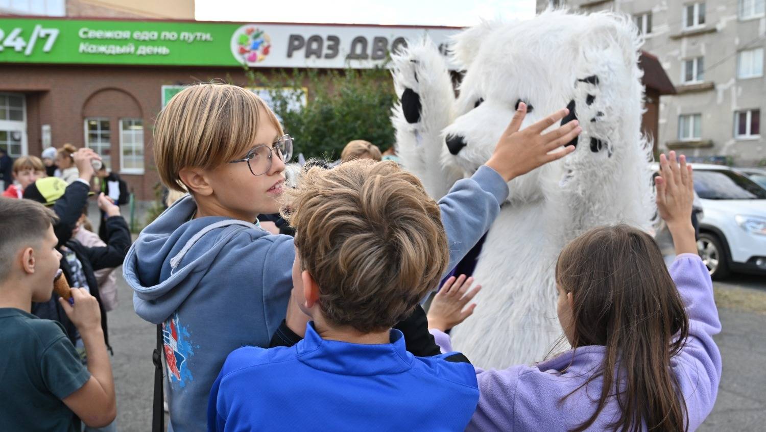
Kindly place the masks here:
<instances>
[{"instance_id":1,"label":"tousled blond hair of the boy in the bright blue jacket","mask_svg":"<svg viewBox=\"0 0 766 432\"><path fill-rule=\"evenodd\" d=\"M319 307L336 326L391 328L447 268L439 206L394 162L312 167L283 200L303 269L319 284Z\"/></svg>"}]
</instances>

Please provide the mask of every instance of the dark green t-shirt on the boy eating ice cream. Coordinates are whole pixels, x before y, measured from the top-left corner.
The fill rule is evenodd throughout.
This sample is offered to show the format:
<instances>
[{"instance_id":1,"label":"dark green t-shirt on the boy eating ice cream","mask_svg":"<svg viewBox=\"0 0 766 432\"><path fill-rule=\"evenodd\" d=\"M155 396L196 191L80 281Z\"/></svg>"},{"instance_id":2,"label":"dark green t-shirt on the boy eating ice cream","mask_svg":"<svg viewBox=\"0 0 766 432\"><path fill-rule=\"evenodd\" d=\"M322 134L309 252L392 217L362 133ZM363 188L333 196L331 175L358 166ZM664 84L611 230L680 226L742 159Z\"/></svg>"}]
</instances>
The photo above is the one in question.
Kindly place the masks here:
<instances>
[{"instance_id":1,"label":"dark green t-shirt on the boy eating ice cream","mask_svg":"<svg viewBox=\"0 0 766 432\"><path fill-rule=\"evenodd\" d=\"M61 399L89 378L60 323L0 307L0 430L79 431Z\"/></svg>"}]
</instances>

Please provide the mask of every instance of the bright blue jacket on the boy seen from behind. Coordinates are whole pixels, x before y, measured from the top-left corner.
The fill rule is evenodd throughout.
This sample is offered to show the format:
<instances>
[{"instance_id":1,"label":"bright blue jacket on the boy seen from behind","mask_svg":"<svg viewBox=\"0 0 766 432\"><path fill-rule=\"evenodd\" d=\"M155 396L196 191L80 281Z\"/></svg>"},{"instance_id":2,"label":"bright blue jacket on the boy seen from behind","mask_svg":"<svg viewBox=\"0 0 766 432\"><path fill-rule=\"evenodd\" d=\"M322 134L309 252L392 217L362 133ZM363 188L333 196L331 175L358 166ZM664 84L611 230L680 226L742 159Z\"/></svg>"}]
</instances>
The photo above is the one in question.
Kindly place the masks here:
<instances>
[{"instance_id":1,"label":"bright blue jacket on the boy seen from behind","mask_svg":"<svg viewBox=\"0 0 766 432\"><path fill-rule=\"evenodd\" d=\"M322 339L309 323L294 346L228 356L210 392L208 430L462 432L479 388L473 366L447 361L451 354L413 356L399 330L391 343Z\"/></svg>"}]
</instances>

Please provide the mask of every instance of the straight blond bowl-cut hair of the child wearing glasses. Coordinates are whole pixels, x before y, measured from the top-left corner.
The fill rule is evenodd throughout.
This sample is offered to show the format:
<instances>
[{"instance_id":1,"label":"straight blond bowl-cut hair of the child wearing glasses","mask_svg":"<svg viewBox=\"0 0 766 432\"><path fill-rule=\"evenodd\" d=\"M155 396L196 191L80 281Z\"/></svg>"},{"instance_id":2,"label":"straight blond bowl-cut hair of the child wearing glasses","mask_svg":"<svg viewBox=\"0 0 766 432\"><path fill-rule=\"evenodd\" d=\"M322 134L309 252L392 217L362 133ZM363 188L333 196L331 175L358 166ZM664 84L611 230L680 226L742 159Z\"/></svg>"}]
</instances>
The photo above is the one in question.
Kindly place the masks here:
<instances>
[{"instance_id":1,"label":"straight blond bowl-cut hair of the child wearing glasses","mask_svg":"<svg viewBox=\"0 0 766 432\"><path fill-rule=\"evenodd\" d=\"M255 141L259 110L283 135L266 102L242 87L202 83L173 96L159 113L154 130L154 159L162 183L185 191L178 176L183 168L209 170L241 158Z\"/></svg>"}]
</instances>

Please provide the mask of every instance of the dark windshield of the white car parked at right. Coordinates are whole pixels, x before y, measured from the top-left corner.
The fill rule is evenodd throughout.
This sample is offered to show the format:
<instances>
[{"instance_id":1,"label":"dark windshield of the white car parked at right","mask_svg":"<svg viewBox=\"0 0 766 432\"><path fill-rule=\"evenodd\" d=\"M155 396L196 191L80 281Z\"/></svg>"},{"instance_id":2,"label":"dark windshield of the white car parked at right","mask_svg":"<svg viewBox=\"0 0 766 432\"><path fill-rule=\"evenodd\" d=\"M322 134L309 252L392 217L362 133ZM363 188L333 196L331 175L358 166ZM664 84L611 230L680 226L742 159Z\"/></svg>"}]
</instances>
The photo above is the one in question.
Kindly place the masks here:
<instances>
[{"instance_id":1,"label":"dark windshield of the white car parked at right","mask_svg":"<svg viewBox=\"0 0 766 432\"><path fill-rule=\"evenodd\" d=\"M766 199L766 189L734 171L694 171L694 190L705 200Z\"/></svg>"}]
</instances>

